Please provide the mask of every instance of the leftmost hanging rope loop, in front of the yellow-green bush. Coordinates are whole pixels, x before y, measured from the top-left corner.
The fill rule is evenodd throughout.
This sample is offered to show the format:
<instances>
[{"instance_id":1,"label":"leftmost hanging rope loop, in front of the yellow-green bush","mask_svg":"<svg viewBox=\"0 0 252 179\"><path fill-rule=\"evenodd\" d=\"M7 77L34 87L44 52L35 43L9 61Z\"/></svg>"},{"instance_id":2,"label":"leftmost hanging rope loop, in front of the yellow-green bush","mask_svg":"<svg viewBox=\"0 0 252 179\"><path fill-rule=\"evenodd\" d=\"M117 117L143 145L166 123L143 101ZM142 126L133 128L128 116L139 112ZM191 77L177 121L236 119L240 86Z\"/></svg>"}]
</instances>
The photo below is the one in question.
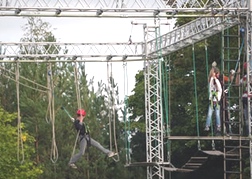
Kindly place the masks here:
<instances>
[{"instance_id":1,"label":"leftmost hanging rope loop, in front of the yellow-green bush","mask_svg":"<svg viewBox=\"0 0 252 179\"><path fill-rule=\"evenodd\" d=\"M17 160L22 164L24 162L24 145L22 138L22 126L21 126L21 117L20 117L20 105L19 105L19 62L16 63L16 91L17 91ZM21 151L20 151L21 150ZM21 153L21 157L20 157Z\"/></svg>"}]
</instances>

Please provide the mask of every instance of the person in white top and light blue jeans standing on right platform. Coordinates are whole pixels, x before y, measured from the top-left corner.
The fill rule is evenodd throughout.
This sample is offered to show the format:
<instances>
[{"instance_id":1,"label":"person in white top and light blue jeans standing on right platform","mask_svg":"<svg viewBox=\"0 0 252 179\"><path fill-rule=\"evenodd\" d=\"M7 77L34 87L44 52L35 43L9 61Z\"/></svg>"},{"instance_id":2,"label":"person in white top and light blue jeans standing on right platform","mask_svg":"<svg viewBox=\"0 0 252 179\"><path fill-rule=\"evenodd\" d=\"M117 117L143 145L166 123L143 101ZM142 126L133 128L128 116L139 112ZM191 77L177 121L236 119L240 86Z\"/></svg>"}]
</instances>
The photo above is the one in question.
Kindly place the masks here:
<instances>
[{"instance_id":1,"label":"person in white top and light blue jeans standing on right platform","mask_svg":"<svg viewBox=\"0 0 252 179\"><path fill-rule=\"evenodd\" d=\"M215 112L216 117L216 132L221 132L220 122L220 100L222 96L222 87L216 74L219 73L218 68L213 67L212 74L209 77L209 106L205 125L205 131L210 130L210 123L212 120L212 114Z\"/></svg>"}]
</instances>

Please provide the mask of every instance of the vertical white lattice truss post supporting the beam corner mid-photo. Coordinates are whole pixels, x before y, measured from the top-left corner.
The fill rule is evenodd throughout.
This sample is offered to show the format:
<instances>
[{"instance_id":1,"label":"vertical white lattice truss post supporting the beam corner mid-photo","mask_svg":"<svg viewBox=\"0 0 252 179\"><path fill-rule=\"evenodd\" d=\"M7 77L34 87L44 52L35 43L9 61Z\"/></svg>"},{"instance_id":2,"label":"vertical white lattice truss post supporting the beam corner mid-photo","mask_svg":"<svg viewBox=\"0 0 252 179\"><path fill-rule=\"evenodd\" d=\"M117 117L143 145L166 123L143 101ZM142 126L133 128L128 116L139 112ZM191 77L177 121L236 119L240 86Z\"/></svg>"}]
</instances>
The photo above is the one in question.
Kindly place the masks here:
<instances>
[{"instance_id":1,"label":"vertical white lattice truss post supporting the beam corner mid-photo","mask_svg":"<svg viewBox=\"0 0 252 179\"><path fill-rule=\"evenodd\" d=\"M164 179L163 118L161 97L161 66L159 57L149 58L147 42L156 38L158 26L144 25L144 78L145 78L145 115L146 115L146 158L148 163L157 163L147 167L147 178ZM157 39L157 44L159 38ZM158 45L157 45L158 48Z\"/></svg>"}]
</instances>

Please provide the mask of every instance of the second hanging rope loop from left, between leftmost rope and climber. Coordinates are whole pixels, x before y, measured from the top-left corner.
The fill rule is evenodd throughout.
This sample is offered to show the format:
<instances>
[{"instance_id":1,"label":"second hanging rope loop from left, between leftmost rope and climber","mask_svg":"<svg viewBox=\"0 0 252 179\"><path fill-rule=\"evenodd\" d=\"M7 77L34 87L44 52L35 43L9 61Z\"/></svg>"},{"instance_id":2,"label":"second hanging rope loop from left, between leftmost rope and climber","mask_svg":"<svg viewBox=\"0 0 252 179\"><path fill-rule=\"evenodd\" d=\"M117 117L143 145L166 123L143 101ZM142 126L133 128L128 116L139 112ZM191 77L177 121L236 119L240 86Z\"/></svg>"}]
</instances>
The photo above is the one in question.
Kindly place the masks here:
<instances>
[{"instance_id":1,"label":"second hanging rope loop from left, between leftmost rope and climber","mask_svg":"<svg viewBox=\"0 0 252 179\"><path fill-rule=\"evenodd\" d=\"M47 66L47 74L48 74L48 85L50 85L50 92L48 93L49 99L49 114L52 123L52 145L51 145L51 154L50 159L52 163L56 163L59 157L58 148L56 144L56 137L55 137L55 110L54 110L54 83L53 83L53 73L52 73L52 64L49 63Z\"/></svg>"}]
</instances>

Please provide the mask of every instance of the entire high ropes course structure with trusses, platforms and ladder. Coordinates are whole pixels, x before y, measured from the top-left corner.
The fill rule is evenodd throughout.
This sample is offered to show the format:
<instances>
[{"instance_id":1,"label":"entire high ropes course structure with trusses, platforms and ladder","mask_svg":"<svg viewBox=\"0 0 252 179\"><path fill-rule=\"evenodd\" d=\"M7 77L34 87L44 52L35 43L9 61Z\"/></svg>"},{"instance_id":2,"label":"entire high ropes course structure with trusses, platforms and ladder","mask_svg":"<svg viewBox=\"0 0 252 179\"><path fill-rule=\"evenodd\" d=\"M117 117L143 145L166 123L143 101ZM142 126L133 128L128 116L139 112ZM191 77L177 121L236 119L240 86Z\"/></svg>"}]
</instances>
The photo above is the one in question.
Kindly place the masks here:
<instances>
[{"instance_id":1,"label":"entire high ropes course structure with trusses, platforms and ladder","mask_svg":"<svg viewBox=\"0 0 252 179\"><path fill-rule=\"evenodd\" d=\"M58 43L58 42L0 42L5 53L0 54L1 63L55 63L55 62L130 62L144 61L145 75L145 120L146 120L146 162L128 163L128 166L146 166L147 178L165 178L165 172L192 171L199 168L207 155L224 157L224 179L228 175L242 178L242 146L241 141L248 141L250 154L250 178L252 178L252 143L251 122L249 136L244 137L239 131L235 136L171 136L170 126L165 125L163 111L167 104L162 101L163 86L161 61L165 56L192 46L217 33L223 37L229 28L244 28L244 51L246 52L247 71L252 72L252 3L250 0L1 0L0 16L14 17L81 17L81 18L153 18L155 25L147 23L143 26L144 41L132 43ZM194 17L195 20L178 27L166 34L160 34L160 20L178 17ZM237 32L240 37L240 31ZM231 36L231 35L230 35ZM39 49L34 51L33 49ZM62 49L68 49L66 53ZM223 51L231 49L222 44ZM240 47L239 47L240 48ZM238 49L239 49L238 48ZM21 49L27 49L22 51ZM30 49L30 50L29 50ZM40 53L43 52L43 53ZM57 52L57 53L56 53ZM223 53L225 54L225 53ZM53 60L52 60L53 59ZM71 59L71 60L69 60ZM232 61L224 56L225 63ZM224 61L224 60L223 60ZM235 60L237 62L237 60ZM239 60L238 60L239 62ZM224 63L224 62L222 62ZM195 65L195 61L194 61ZM223 64L222 64L223 65ZM239 64L240 65L240 64ZM224 65L225 66L225 65ZM18 69L16 81L19 80ZM252 92L250 75L247 75L247 91ZM50 87L52 84L48 84ZM240 88L240 87L239 87ZM17 85L17 91L19 85ZM17 92L17 96L19 96ZM52 97L52 96L51 96ZM197 97L197 96L196 96ZM237 96L239 98L240 96ZM248 114L250 114L250 98ZM53 103L50 103L50 115L54 119ZM80 106L80 104L79 104ZM241 103L239 106L242 106ZM20 111L18 110L18 113ZM242 110L239 122L242 121ZM20 123L20 119L19 119ZM18 130L19 131L19 130ZM167 132L168 131L168 132ZM21 131L19 131L21 133ZM197 140L199 151L181 168L172 165L170 157L164 157L164 140ZM200 142L212 141L212 150L203 150ZM214 141L223 142L223 151L215 150ZM233 141L236 146L229 146ZM22 143L19 144L22 148ZM22 161L23 159L19 159ZM52 142L52 161L57 160L57 147ZM130 161L130 160L128 160ZM228 171L227 166L233 170Z\"/></svg>"}]
</instances>

